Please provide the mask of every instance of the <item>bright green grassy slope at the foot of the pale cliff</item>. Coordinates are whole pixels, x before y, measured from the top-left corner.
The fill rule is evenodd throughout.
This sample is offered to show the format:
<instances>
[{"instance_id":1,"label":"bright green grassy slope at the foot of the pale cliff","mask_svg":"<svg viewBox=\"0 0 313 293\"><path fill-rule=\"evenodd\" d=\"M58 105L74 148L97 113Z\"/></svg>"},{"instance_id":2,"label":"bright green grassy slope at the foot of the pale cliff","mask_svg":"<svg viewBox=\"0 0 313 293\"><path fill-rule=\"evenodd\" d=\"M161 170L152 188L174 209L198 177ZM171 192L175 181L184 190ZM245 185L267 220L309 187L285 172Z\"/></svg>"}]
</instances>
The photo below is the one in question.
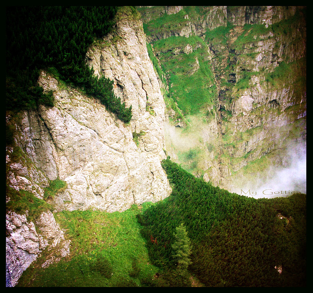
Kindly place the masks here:
<instances>
[{"instance_id":1,"label":"bright green grassy slope at the foot of the pale cliff","mask_svg":"<svg viewBox=\"0 0 313 293\"><path fill-rule=\"evenodd\" d=\"M143 207L144 208L144 207ZM56 213L70 240L70 255L42 269L42 256L23 273L17 287L145 287L159 271L151 264L136 220L137 206L112 214Z\"/></svg>"}]
</instances>

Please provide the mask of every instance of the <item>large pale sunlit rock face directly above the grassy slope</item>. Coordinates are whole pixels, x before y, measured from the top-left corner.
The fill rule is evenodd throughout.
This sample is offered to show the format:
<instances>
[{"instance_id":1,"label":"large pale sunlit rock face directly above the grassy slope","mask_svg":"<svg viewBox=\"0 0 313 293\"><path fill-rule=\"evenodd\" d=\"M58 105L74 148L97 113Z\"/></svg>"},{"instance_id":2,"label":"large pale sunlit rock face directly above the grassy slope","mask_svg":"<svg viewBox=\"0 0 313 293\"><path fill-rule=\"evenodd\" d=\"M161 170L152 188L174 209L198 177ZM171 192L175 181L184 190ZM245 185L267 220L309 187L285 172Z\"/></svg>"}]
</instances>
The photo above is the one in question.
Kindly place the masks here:
<instances>
[{"instance_id":1,"label":"large pale sunlit rock face directly above the grassy slope","mask_svg":"<svg viewBox=\"0 0 313 293\"><path fill-rule=\"evenodd\" d=\"M114 43L116 36L120 40ZM56 210L122 211L170 193L160 164L165 158L165 105L142 23L124 18L104 42L112 45L90 49L87 59L96 74L113 80L115 94L132 105L128 125L97 100L60 87L42 72L39 84L54 91L55 107L24 112L17 126L18 144L35 166L49 180L67 182L67 189L54 199ZM133 133L138 134L137 144Z\"/></svg>"}]
</instances>

